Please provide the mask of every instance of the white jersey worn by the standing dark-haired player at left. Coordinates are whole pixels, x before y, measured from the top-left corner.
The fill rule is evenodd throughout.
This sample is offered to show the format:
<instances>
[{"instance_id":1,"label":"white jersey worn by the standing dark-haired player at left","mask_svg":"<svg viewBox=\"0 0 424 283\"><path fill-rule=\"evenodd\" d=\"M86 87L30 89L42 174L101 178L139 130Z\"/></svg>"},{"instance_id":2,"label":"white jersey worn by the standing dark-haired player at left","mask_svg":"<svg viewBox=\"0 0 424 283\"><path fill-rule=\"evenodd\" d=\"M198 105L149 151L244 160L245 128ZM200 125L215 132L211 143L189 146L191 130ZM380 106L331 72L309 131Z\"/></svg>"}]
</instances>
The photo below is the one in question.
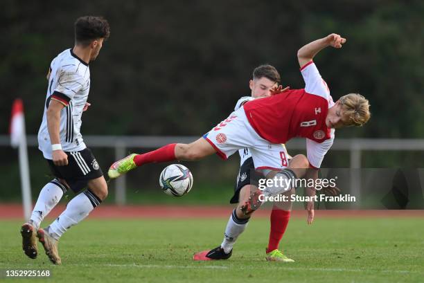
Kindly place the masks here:
<instances>
[{"instance_id":1,"label":"white jersey worn by the standing dark-haired player at left","mask_svg":"<svg viewBox=\"0 0 424 283\"><path fill-rule=\"evenodd\" d=\"M87 63L72 49L60 53L50 65L50 77L44 103L42 125L38 131L38 148L44 158L52 159L51 141L47 128L46 111L51 100L64 104L60 112L60 144L64 152L79 152L86 148L80 128L82 109L90 89L90 70Z\"/></svg>"}]
</instances>

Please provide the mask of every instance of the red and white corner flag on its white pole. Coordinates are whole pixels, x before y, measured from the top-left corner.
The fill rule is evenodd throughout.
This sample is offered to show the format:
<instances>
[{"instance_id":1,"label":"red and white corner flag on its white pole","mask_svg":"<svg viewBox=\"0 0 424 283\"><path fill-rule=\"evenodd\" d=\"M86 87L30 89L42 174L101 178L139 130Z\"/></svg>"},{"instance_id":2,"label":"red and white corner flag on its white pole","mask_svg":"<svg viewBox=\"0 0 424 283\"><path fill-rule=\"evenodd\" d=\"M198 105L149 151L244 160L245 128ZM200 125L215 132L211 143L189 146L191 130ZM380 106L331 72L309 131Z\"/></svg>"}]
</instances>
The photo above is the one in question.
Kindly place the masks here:
<instances>
[{"instance_id":1,"label":"red and white corner flag on its white pole","mask_svg":"<svg viewBox=\"0 0 424 283\"><path fill-rule=\"evenodd\" d=\"M12 106L12 118L10 119L10 145L19 147L19 172L21 174L22 204L24 217L29 219L31 213L31 187L28 165L28 152L26 151L26 133L24 118L24 103L16 99Z\"/></svg>"}]
</instances>

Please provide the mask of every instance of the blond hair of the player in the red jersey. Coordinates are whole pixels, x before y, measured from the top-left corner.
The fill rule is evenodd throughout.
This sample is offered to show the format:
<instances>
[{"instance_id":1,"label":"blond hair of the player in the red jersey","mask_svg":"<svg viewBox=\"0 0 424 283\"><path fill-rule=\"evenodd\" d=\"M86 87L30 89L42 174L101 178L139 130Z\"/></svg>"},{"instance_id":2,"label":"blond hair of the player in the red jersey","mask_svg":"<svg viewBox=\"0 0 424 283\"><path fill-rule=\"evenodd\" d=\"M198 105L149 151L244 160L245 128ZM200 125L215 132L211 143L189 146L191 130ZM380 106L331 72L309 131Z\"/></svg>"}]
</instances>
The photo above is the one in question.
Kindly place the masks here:
<instances>
[{"instance_id":1,"label":"blond hair of the player in the red jersey","mask_svg":"<svg viewBox=\"0 0 424 283\"><path fill-rule=\"evenodd\" d=\"M362 127L371 117L369 101L359 93L349 93L339 98L346 126Z\"/></svg>"}]
</instances>

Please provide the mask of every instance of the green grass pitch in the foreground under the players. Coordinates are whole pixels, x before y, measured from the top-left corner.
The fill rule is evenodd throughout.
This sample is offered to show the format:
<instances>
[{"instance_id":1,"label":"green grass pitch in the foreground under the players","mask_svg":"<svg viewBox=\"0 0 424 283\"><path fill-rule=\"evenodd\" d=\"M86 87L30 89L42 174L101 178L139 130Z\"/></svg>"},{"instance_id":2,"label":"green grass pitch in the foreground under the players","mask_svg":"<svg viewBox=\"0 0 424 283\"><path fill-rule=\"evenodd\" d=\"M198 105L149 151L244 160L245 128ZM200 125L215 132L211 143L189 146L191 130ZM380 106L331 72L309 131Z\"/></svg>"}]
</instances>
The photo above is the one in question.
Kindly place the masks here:
<instances>
[{"instance_id":1,"label":"green grass pitch in the foreground under the players","mask_svg":"<svg viewBox=\"0 0 424 283\"><path fill-rule=\"evenodd\" d=\"M88 219L62 237L53 266L41 245L37 259L22 253L20 221L0 221L0 268L51 270L39 282L423 282L423 219L305 222L290 221L282 246L296 262L283 264L265 262L268 219L252 219L220 262L192 256L220 244L227 219Z\"/></svg>"}]
</instances>

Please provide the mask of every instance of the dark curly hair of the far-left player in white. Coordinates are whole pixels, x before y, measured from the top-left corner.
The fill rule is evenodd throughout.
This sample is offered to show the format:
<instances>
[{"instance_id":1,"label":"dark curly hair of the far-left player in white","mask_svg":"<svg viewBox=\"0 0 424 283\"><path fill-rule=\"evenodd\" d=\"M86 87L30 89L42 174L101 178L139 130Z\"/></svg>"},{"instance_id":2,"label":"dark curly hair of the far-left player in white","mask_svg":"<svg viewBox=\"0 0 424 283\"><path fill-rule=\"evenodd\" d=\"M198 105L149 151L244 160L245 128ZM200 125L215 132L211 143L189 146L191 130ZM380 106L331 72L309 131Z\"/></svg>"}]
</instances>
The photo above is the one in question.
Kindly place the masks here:
<instances>
[{"instance_id":1,"label":"dark curly hair of the far-left player in white","mask_svg":"<svg viewBox=\"0 0 424 283\"><path fill-rule=\"evenodd\" d=\"M103 17L85 16L75 21L75 42L83 46L96 39L107 39L110 35L109 23Z\"/></svg>"}]
</instances>

